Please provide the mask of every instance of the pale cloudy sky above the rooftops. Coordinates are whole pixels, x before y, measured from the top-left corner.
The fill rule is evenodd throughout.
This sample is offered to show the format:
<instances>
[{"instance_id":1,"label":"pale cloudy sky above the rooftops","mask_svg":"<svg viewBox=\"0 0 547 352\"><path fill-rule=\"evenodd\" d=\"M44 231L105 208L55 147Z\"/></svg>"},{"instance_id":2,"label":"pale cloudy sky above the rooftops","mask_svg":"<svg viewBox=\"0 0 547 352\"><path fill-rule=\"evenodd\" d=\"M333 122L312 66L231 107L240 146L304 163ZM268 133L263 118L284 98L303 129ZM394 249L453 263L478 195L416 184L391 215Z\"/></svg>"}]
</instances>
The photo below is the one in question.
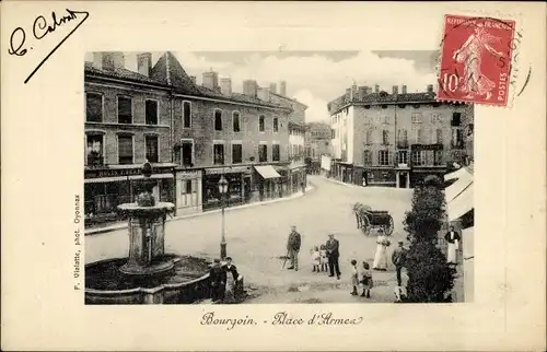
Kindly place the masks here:
<instances>
[{"instance_id":1,"label":"pale cloudy sky above the rooftops","mask_svg":"<svg viewBox=\"0 0 547 352\"><path fill-rule=\"evenodd\" d=\"M163 52L152 52L152 61ZM423 92L435 82L438 51L173 51L189 75L201 84L203 72L231 78L233 92L244 80L260 86L287 82L287 95L307 105L306 122L329 121L327 103L353 83L391 92L406 84L408 92ZM137 70L137 52L125 52L126 67ZM85 56L91 60L91 54ZM400 89L399 89L400 92Z\"/></svg>"}]
</instances>

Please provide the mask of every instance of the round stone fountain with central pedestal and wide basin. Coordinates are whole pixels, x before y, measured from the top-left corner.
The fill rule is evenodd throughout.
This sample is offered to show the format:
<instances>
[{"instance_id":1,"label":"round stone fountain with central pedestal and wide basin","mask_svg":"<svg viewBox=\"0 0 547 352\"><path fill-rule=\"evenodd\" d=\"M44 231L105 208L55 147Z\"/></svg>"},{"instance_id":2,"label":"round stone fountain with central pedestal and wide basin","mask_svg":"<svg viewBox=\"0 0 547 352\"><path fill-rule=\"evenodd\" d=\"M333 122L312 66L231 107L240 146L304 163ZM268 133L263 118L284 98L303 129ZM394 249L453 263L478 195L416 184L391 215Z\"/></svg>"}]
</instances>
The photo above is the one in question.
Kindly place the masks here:
<instances>
[{"instance_id":1,"label":"round stone fountain with central pedestal and wide basin","mask_svg":"<svg viewBox=\"0 0 547 352\"><path fill-rule=\"evenodd\" d=\"M128 216L128 257L85 266L86 304L191 303L210 294L207 259L165 254L166 216L175 206L154 199L149 163L142 175L137 201L118 206Z\"/></svg>"}]
</instances>

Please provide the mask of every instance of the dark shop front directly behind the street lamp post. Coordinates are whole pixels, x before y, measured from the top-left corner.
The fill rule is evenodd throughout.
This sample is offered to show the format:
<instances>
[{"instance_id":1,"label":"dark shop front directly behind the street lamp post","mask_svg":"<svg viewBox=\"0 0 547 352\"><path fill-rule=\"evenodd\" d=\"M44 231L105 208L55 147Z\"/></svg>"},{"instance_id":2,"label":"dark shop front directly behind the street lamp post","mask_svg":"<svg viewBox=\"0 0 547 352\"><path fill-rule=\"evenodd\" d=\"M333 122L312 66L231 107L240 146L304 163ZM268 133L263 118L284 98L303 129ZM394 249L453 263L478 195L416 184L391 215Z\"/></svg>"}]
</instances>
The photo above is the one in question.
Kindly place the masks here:
<instances>
[{"instance_id":1,"label":"dark shop front directly behind the street lamp post","mask_svg":"<svg viewBox=\"0 0 547 352\"><path fill-rule=\"evenodd\" d=\"M220 178L228 180L225 207L241 206L251 199L251 169L241 167L211 167L203 173L203 211L222 208L222 197L219 191Z\"/></svg>"}]
</instances>

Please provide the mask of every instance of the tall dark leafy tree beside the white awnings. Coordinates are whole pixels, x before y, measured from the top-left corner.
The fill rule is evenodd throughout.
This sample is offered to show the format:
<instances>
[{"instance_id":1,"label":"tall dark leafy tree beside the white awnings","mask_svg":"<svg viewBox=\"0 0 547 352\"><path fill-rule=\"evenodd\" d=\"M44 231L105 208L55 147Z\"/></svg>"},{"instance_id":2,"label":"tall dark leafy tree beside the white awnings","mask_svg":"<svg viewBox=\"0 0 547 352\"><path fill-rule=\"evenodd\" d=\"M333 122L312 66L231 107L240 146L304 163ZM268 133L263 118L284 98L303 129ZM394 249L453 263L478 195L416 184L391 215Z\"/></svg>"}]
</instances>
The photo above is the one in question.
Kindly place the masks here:
<instances>
[{"instance_id":1,"label":"tall dark leafy tree beside the white awnings","mask_svg":"<svg viewBox=\"0 0 547 352\"><path fill-rule=\"evenodd\" d=\"M407 253L407 301L415 303L450 302L455 269L437 248L437 235L446 220L442 181L428 176L415 188L412 209L406 213L405 231L410 248Z\"/></svg>"}]
</instances>

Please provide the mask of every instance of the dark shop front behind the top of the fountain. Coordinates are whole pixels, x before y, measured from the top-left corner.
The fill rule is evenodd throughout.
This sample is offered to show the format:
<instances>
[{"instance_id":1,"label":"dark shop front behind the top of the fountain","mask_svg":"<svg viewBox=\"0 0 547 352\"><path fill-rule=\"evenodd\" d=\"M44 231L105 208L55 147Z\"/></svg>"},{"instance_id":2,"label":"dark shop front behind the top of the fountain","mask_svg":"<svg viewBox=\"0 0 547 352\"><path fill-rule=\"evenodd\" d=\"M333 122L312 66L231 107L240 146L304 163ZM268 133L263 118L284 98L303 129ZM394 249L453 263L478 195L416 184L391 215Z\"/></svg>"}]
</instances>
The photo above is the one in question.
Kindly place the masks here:
<instances>
[{"instance_id":1,"label":"dark shop front behind the top of the fountain","mask_svg":"<svg viewBox=\"0 0 547 352\"><path fill-rule=\"evenodd\" d=\"M173 166L154 166L151 179L156 201L175 202ZM117 207L133 202L142 189L141 167L92 168L84 172L85 227L124 220Z\"/></svg>"}]
</instances>

